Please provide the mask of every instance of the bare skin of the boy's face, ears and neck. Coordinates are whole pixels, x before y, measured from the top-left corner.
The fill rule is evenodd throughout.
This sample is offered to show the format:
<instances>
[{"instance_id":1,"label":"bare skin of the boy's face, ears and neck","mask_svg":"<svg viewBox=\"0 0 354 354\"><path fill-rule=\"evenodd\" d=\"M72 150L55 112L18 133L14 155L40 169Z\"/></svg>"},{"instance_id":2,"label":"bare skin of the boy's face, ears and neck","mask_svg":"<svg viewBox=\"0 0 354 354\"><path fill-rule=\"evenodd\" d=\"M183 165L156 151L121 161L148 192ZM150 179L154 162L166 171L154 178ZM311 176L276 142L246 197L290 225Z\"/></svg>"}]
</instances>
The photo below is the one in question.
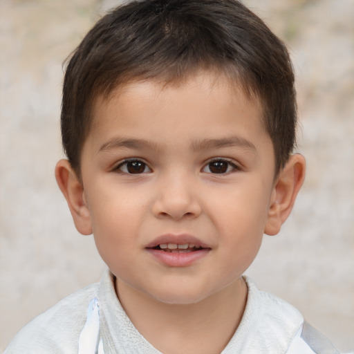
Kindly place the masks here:
<instances>
[{"instance_id":1,"label":"bare skin of the boy's face, ears and neck","mask_svg":"<svg viewBox=\"0 0 354 354\"><path fill-rule=\"evenodd\" d=\"M133 82L95 103L82 180L67 160L56 167L77 230L93 233L122 306L153 346L220 353L245 308L241 275L263 233L277 234L290 214L304 158L290 156L274 176L259 102L209 73ZM163 235L193 236L204 251L171 265L149 248Z\"/></svg>"}]
</instances>

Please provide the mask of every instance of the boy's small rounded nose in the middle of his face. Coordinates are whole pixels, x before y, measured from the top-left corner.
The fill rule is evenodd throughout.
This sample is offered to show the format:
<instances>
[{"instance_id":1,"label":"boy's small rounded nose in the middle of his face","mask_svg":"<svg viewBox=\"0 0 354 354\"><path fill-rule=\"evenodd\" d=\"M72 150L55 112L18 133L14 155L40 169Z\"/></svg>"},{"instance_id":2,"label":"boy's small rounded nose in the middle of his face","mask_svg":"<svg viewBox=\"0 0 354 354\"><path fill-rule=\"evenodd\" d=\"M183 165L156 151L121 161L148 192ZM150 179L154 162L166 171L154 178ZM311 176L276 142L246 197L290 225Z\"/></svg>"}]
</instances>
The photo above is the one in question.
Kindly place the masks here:
<instances>
[{"instance_id":1,"label":"boy's small rounded nose in the middle of his face","mask_svg":"<svg viewBox=\"0 0 354 354\"><path fill-rule=\"evenodd\" d=\"M157 218L197 218L201 214L201 203L195 184L186 176L170 176L156 181L156 199L152 212Z\"/></svg>"}]
</instances>

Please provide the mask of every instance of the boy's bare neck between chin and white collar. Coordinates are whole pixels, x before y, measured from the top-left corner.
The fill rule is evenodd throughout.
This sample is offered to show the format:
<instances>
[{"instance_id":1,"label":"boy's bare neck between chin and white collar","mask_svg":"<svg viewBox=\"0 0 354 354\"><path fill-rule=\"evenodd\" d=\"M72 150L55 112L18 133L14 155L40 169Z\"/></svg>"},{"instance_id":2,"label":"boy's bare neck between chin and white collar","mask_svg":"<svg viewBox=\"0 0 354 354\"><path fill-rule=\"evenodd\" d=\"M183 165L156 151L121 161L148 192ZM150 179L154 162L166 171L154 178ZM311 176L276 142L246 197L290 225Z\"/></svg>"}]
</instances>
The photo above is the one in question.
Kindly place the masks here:
<instances>
[{"instance_id":1,"label":"boy's bare neck between chin and white collar","mask_svg":"<svg viewBox=\"0 0 354 354\"><path fill-rule=\"evenodd\" d=\"M230 341L247 301L247 286L239 278L218 293L194 304L162 301L116 280L120 302L137 330L165 354L221 353Z\"/></svg>"}]
</instances>

